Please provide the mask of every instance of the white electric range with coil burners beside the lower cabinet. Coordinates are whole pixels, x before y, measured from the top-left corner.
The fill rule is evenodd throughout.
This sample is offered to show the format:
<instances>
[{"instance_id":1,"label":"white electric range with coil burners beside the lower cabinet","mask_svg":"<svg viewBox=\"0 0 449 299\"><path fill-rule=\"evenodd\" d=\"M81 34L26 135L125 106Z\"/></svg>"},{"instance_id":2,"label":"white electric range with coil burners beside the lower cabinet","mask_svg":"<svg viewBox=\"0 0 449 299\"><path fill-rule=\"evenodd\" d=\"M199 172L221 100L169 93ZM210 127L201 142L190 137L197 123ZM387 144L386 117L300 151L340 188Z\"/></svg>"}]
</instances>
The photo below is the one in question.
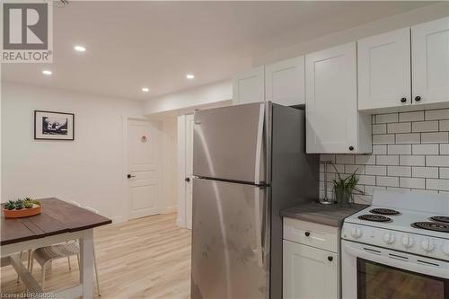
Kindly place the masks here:
<instances>
[{"instance_id":1,"label":"white electric range with coil burners beside the lower cabinet","mask_svg":"<svg viewBox=\"0 0 449 299\"><path fill-rule=\"evenodd\" d=\"M449 298L449 195L375 190L341 238L343 298Z\"/></svg>"}]
</instances>

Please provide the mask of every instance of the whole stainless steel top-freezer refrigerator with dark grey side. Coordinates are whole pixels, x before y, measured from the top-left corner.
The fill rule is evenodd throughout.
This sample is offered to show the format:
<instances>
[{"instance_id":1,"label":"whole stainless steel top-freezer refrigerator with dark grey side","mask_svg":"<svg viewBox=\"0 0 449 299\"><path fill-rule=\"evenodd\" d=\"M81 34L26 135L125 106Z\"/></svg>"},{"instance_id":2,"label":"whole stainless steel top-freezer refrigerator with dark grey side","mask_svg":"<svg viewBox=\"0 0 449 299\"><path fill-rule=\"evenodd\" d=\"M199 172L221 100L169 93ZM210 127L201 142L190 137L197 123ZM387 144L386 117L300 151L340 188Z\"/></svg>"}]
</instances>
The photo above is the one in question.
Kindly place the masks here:
<instances>
[{"instance_id":1,"label":"whole stainless steel top-freezer refrigerator with dark grey side","mask_svg":"<svg viewBox=\"0 0 449 299\"><path fill-rule=\"evenodd\" d=\"M304 111L251 103L194 117L191 298L282 298L279 211L318 198Z\"/></svg>"}]
</instances>

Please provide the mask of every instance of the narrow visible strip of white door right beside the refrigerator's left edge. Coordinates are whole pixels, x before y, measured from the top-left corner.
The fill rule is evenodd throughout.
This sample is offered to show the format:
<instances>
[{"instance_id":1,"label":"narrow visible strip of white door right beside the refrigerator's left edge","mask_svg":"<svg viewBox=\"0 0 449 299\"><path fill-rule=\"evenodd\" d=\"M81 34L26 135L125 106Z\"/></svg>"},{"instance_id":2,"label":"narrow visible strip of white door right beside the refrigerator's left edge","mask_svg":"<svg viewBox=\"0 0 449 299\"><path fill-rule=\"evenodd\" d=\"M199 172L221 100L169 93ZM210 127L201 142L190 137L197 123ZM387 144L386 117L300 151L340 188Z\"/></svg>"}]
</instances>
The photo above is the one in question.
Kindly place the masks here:
<instances>
[{"instance_id":1,"label":"narrow visible strip of white door right beside the refrigerator's left edge","mask_svg":"<svg viewBox=\"0 0 449 299\"><path fill-rule=\"evenodd\" d=\"M192 228L192 191L193 191L193 114L186 115L186 227Z\"/></svg>"}]
</instances>

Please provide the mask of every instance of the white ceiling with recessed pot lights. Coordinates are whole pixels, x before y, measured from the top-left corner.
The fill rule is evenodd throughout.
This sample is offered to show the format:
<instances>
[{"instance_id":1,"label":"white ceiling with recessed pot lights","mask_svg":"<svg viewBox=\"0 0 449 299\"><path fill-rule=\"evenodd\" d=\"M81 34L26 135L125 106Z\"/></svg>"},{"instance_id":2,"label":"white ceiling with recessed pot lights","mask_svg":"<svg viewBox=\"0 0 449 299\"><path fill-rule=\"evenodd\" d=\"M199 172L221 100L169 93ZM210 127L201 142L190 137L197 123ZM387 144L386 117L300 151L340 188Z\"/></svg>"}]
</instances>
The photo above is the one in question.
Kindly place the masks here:
<instances>
[{"instance_id":1,"label":"white ceiling with recessed pot lights","mask_svg":"<svg viewBox=\"0 0 449 299\"><path fill-rule=\"evenodd\" d=\"M144 100L230 78L292 29L318 37L426 4L72 1L53 10L53 63L4 64L2 81Z\"/></svg>"}]
</instances>

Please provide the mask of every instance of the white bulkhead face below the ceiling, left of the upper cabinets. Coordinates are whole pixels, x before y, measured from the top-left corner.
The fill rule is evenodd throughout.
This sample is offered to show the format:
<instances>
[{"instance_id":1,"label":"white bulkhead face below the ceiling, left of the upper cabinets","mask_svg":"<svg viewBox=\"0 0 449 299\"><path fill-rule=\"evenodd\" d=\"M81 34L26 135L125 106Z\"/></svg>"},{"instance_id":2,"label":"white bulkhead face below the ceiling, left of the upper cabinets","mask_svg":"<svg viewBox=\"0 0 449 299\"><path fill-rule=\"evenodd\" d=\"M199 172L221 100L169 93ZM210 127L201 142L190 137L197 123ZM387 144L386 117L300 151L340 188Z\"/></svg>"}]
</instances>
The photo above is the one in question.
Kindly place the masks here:
<instances>
[{"instance_id":1,"label":"white bulkhead face below the ceiling, left of the upper cabinets","mask_svg":"<svg viewBox=\"0 0 449 299\"><path fill-rule=\"evenodd\" d=\"M174 92L145 101L144 114L189 110L233 99L231 80L202 85L183 92Z\"/></svg>"}]
</instances>

